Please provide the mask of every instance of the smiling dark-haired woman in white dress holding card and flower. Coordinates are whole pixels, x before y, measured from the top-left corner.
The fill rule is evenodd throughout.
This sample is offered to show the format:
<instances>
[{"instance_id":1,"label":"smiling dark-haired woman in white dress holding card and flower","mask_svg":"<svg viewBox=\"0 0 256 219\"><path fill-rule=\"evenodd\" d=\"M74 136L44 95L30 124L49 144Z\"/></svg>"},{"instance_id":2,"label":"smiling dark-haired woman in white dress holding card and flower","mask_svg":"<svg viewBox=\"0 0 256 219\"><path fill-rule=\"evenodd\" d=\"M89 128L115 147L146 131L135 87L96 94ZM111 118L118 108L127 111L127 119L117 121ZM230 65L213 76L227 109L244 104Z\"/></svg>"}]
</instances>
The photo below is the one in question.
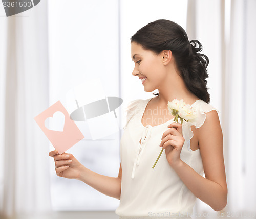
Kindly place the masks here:
<instances>
[{"instance_id":1,"label":"smiling dark-haired woman in white dress holding card and flower","mask_svg":"<svg viewBox=\"0 0 256 219\"><path fill-rule=\"evenodd\" d=\"M146 92L159 93L127 107L118 177L97 174L72 154L51 151L56 174L120 199L119 218L190 217L196 197L222 210L227 204L223 135L218 110L209 104L209 60L201 50L199 41L189 41L184 29L169 20L137 31L131 38L133 75ZM194 125L173 122L167 103L175 98L195 109ZM165 153L152 168L162 148Z\"/></svg>"}]
</instances>

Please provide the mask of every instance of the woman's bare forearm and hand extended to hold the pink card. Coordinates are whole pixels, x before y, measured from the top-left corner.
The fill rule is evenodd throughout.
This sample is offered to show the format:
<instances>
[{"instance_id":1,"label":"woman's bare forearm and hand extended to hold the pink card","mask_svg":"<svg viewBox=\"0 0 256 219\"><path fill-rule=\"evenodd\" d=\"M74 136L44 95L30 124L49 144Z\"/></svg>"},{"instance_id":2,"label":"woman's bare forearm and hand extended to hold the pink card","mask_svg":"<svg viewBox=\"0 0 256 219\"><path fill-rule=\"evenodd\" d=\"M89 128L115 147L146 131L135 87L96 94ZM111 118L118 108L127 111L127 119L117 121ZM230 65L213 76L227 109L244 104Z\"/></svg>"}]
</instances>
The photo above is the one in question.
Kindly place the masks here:
<instances>
[{"instance_id":1,"label":"woman's bare forearm and hand extended to hold the pink card","mask_svg":"<svg viewBox=\"0 0 256 219\"><path fill-rule=\"evenodd\" d=\"M57 176L81 180L99 192L120 200L121 164L118 177L109 177L86 168L72 154L63 153L59 155L55 150L51 151L49 156L54 158Z\"/></svg>"}]
</instances>

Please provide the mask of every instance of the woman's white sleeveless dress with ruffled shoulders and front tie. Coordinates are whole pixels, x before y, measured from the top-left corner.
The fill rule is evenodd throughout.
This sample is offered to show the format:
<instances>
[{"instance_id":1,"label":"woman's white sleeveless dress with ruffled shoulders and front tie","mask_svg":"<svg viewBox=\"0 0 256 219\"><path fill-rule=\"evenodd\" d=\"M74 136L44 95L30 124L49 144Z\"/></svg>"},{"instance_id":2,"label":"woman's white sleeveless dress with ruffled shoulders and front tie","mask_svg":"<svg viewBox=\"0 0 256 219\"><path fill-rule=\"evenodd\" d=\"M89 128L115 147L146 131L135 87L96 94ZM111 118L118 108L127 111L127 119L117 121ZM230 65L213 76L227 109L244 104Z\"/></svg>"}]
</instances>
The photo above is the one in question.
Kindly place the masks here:
<instances>
[{"instance_id":1,"label":"woman's white sleeveless dress with ruffled shoulders and front tie","mask_svg":"<svg viewBox=\"0 0 256 219\"><path fill-rule=\"evenodd\" d=\"M196 196L186 187L174 169L169 165L163 152L154 169L161 148L159 144L173 119L157 126L143 126L141 119L147 103L152 98L131 101L126 108L127 122L120 142L122 182L120 204L115 213L120 219L126 218L191 218ZM181 160L203 176L200 149L190 149L193 137L191 125L199 128L205 121L206 112L219 111L203 100L191 105L197 112L194 124L184 121L182 134L185 143ZM141 139L141 144L139 143Z\"/></svg>"}]
</instances>

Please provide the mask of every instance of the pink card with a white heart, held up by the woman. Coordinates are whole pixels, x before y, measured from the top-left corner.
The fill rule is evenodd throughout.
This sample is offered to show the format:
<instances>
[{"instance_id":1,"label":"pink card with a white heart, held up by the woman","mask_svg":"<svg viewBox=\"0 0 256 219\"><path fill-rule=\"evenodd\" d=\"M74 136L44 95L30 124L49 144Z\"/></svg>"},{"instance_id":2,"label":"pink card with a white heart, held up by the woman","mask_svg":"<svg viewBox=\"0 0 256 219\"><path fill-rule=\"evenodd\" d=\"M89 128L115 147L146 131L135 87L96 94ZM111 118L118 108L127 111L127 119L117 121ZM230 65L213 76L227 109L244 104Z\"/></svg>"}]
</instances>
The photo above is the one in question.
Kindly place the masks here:
<instances>
[{"instance_id":1,"label":"pink card with a white heart, held up by the woman","mask_svg":"<svg viewBox=\"0 0 256 219\"><path fill-rule=\"evenodd\" d=\"M41 130L46 134L47 138L51 141L53 147L58 150L59 154L64 153L74 144L84 138L83 134L70 118L69 113L60 101L50 106L44 112L34 117L36 123ZM57 126L53 129L48 129L45 126L46 119L57 121Z\"/></svg>"}]
</instances>

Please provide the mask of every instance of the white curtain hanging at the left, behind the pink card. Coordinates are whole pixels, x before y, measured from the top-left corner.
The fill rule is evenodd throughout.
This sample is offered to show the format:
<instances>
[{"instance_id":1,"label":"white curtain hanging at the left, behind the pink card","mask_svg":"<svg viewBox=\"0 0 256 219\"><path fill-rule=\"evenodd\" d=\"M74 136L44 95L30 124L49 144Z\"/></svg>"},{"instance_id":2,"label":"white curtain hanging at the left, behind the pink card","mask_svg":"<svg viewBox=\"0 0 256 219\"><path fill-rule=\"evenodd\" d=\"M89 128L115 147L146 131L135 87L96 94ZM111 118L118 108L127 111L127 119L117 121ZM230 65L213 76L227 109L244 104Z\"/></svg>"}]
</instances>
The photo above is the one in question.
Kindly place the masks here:
<instances>
[{"instance_id":1,"label":"white curtain hanging at the left, behind the pink card","mask_svg":"<svg viewBox=\"0 0 256 219\"><path fill-rule=\"evenodd\" d=\"M38 6L1 14L1 218L51 209L49 143L33 119L48 107L47 1Z\"/></svg>"}]
</instances>

